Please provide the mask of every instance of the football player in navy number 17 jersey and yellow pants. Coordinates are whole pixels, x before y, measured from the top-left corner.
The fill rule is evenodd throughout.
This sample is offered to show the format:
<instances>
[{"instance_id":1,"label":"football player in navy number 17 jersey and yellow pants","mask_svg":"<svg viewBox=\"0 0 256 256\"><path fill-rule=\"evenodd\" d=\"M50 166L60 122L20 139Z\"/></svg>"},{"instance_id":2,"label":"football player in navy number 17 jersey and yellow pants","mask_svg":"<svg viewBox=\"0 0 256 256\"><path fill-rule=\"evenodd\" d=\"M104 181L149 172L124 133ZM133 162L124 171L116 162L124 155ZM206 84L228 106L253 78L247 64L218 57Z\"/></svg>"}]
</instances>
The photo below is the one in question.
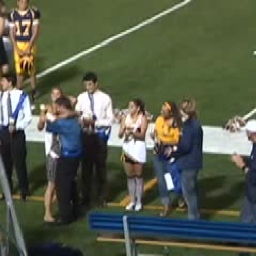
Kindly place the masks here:
<instances>
[{"instance_id":1,"label":"football player in navy number 17 jersey and yellow pants","mask_svg":"<svg viewBox=\"0 0 256 256\"><path fill-rule=\"evenodd\" d=\"M36 40L40 29L40 11L29 6L29 0L17 0L18 7L9 14L10 39L14 48L14 61L17 73L17 87L21 88L24 78L23 58L34 62ZM30 63L34 65L34 63ZM32 102L36 99L36 71L27 70L31 76Z\"/></svg>"}]
</instances>

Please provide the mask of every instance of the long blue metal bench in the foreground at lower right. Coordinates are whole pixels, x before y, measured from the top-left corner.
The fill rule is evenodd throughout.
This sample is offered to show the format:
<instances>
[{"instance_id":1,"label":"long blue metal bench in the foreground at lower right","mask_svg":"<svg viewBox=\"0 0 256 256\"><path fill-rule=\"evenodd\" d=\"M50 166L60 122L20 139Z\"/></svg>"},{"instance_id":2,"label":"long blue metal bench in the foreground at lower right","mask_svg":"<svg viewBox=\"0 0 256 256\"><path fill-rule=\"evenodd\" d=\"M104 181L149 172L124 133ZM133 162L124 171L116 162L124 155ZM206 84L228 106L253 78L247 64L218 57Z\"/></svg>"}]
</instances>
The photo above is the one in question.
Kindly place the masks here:
<instances>
[{"instance_id":1,"label":"long blue metal bench in the foreground at lower right","mask_svg":"<svg viewBox=\"0 0 256 256\"><path fill-rule=\"evenodd\" d=\"M127 256L137 254L136 244L256 252L252 224L92 213L89 225L98 241L124 242Z\"/></svg>"}]
</instances>

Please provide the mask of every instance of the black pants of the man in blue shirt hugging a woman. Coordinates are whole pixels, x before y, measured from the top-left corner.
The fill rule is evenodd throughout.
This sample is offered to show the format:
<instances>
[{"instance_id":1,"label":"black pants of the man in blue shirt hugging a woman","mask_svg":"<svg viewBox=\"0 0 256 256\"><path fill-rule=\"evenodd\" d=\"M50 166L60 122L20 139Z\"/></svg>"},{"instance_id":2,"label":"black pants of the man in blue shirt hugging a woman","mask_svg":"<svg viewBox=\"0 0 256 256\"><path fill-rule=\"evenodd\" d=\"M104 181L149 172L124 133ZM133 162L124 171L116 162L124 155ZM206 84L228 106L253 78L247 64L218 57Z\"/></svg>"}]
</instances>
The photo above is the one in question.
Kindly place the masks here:
<instances>
[{"instance_id":1,"label":"black pants of the man in blue shirt hugging a woman","mask_svg":"<svg viewBox=\"0 0 256 256\"><path fill-rule=\"evenodd\" d=\"M59 215L63 222L72 221L78 210L77 170L80 157L60 156L56 169L56 196L58 200Z\"/></svg>"}]
</instances>

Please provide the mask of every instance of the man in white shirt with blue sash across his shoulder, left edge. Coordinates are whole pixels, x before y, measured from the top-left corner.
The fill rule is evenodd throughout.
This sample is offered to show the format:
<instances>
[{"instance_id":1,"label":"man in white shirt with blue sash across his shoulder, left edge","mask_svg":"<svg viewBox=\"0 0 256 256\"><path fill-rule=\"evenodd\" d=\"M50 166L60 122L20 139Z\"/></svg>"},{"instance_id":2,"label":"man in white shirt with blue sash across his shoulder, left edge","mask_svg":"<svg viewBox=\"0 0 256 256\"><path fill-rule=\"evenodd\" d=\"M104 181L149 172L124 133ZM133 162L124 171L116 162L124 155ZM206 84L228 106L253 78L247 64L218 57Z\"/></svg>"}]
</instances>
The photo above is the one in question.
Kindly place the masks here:
<instances>
[{"instance_id":1,"label":"man in white shirt with blue sash across his shoulder, left edge","mask_svg":"<svg viewBox=\"0 0 256 256\"><path fill-rule=\"evenodd\" d=\"M0 94L0 151L12 191L13 165L17 172L20 195L25 201L28 195L26 166L25 128L32 120L31 107L27 94L15 88L16 76L7 74L1 78Z\"/></svg>"}]
</instances>

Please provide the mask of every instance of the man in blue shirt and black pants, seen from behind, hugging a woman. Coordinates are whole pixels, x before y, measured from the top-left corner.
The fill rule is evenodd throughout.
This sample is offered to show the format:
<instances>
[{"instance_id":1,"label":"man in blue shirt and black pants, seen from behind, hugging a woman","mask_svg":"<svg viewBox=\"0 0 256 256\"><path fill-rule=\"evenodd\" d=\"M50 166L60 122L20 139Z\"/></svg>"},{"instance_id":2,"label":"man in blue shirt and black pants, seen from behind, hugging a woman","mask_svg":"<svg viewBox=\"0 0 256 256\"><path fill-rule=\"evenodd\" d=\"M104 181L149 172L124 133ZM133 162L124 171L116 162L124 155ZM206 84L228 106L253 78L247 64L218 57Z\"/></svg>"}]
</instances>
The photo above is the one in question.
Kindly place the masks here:
<instances>
[{"instance_id":1,"label":"man in blue shirt and black pants, seen from behind, hugging a woman","mask_svg":"<svg viewBox=\"0 0 256 256\"><path fill-rule=\"evenodd\" d=\"M72 109L66 97L58 98L55 106L60 116L68 116ZM82 129L78 119L70 117L48 121L46 131L57 134L61 145L55 177L60 219L55 224L68 224L78 210L77 170L82 155Z\"/></svg>"}]
</instances>

